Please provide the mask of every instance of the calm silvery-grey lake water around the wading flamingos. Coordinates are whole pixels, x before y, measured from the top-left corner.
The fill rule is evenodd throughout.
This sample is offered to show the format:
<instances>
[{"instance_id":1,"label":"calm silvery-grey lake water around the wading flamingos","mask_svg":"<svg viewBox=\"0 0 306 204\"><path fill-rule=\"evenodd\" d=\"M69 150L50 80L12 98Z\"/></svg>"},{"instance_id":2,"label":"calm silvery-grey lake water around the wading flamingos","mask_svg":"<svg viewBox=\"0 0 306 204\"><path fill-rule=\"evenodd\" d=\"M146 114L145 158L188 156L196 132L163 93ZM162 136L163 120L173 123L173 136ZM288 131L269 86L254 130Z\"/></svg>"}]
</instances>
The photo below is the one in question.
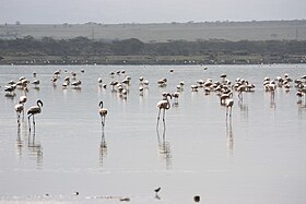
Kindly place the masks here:
<instances>
[{"instance_id":1,"label":"calm silvery-grey lake water around the wading flamingos","mask_svg":"<svg viewBox=\"0 0 306 204\"><path fill-rule=\"evenodd\" d=\"M54 85L56 70L61 74ZM117 70L126 73L111 77ZM63 88L72 71L82 84ZM27 85L25 110L37 99L44 106L30 132L26 112L19 128L14 110L24 92L16 88L15 96L7 96L4 86L20 76L33 81L33 72L40 84ZM234 92L231 119L215 92L190 88L200 79L220 81L222 73L256 85L255 92L243 93L243 101ZM262 85L266 76L285 73L299 79L306 64L1 65L0 203L185 204L199 195L207 204L304 204L305 100L297 104L293 82L289 92L278 87L274 100ZM142 94L141 75L150 82ZM126 76L131 82L123 97L109 82ZM167 85L160 87L163 77ZM181 80L178 105L166 111L166 129L161 121L156 131L156 104ZM108 109L104 130L101 100Z\"/></svg>"}]
</instances>

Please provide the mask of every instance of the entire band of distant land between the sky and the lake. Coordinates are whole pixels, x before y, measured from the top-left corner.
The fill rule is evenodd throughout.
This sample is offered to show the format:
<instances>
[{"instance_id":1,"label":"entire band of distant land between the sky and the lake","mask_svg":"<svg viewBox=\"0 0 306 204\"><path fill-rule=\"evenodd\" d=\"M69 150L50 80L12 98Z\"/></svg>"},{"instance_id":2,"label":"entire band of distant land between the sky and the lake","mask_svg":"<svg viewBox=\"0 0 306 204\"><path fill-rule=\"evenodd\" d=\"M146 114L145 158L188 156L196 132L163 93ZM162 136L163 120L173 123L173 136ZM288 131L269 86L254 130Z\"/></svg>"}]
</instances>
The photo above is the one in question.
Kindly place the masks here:
<instances>
[{"instance_id":1,"label":"entire band of distant land between the sky and the lake","mask_svg":"<svg viewBox=\"0 0 306 204\"><path fill-rule=\"evenodd\" d=\"M60 45L70 39L86 38L94 44L91 46L75 47L70 52L68 44L63 51ZM47 38L47 39L46 39ZM89 22L85 24L2 24L0 25L0 41L28 39L34 43L48 40L56 43L38 45L28 43L28 46L12 50L12 46L0 44L0 64L261 64L261 63L305 63L306 49L306 20L292 21L251 21L251 22L187 22L187 23L150 23L150 24L101 24ZM98 51L104 43L128 41L137 39L137 44L146 46L156 45L153 51L129 49L129 45L117 47L117 52ZM36 41L35 41L36 40ZM85 40L85 41L86 41ZM252 41L254 49L262 48L271 50L251 50L247 44L244 47L235 45L235 50L225 45L205 45L204 49L192 51L197 44L202 41L222 43ZM21 40L22 41L22 40ZM176 45L179 41L189 44L188 47ZM275 45L267 45L264 41L278 41ZM295 41L282 47L282 41ZM80 41L82 45L82 41ZM158 45L160 44L160 45ZM163 45L165 44L165 45ZM170 44L175 45L172 46ZM266 44L266 45L264 45ZM190 45L190 44L189 44ZM216 46L215 46L216 45ZM55 46L55 47L54 47ZM170 47L172 46L172 47ZM184 47L185 46L185 47ZM210 47L212 46L212 47ZM213 47L214 46L214 47ZM28 49L31 47L31 49ZM199 47L199 46L198 46ZM217 47L217 49L215 49ZM289 48L301 47L297 51ZM39 49L37 49L39 48ZM47 48L48 51L42 48ZM114 47L113 47L114 48ZM127 48L129 51L121 51ZM238 49L239 48L239 49ZM50 51L50 49L54 49ZM97 51L93 51L93 50ZM119 50L119 51L118 51ZM126 52L125 52L126 51ZM123 52L123 53L122 53Z\"/></svg>"}]
</instances>

